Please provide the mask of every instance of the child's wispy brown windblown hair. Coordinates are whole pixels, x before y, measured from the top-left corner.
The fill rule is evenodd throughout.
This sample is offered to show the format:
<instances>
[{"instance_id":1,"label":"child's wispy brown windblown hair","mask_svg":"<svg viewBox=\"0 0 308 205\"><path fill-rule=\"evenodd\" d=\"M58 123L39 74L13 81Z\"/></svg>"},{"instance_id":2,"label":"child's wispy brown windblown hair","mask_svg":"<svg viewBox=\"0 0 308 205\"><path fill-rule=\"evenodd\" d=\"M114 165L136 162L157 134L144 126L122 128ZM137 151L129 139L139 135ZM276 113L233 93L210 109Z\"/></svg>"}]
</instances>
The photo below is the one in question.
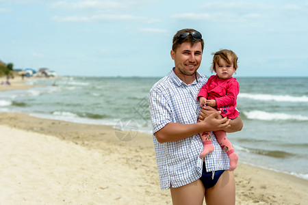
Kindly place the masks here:
<instances>
[{"instance_id":1,"label":"child's wispy brown windblown hair","mask_svg":"<svg viewBox=\"0 0 308 205\"><path fill-rule=\"evenodd\" d=\"M213 63L211 64L211 72L215 71L216 72L216 64L218 64L218 61L220 58L224 59L227 61L228 64L233 63L233 68L236 70L238 68L238 56L231 51L227 49L222 49L220 51L217 51L216 53L211 53L214 55L213 57Z\"/></svg>"}]
</instances>

